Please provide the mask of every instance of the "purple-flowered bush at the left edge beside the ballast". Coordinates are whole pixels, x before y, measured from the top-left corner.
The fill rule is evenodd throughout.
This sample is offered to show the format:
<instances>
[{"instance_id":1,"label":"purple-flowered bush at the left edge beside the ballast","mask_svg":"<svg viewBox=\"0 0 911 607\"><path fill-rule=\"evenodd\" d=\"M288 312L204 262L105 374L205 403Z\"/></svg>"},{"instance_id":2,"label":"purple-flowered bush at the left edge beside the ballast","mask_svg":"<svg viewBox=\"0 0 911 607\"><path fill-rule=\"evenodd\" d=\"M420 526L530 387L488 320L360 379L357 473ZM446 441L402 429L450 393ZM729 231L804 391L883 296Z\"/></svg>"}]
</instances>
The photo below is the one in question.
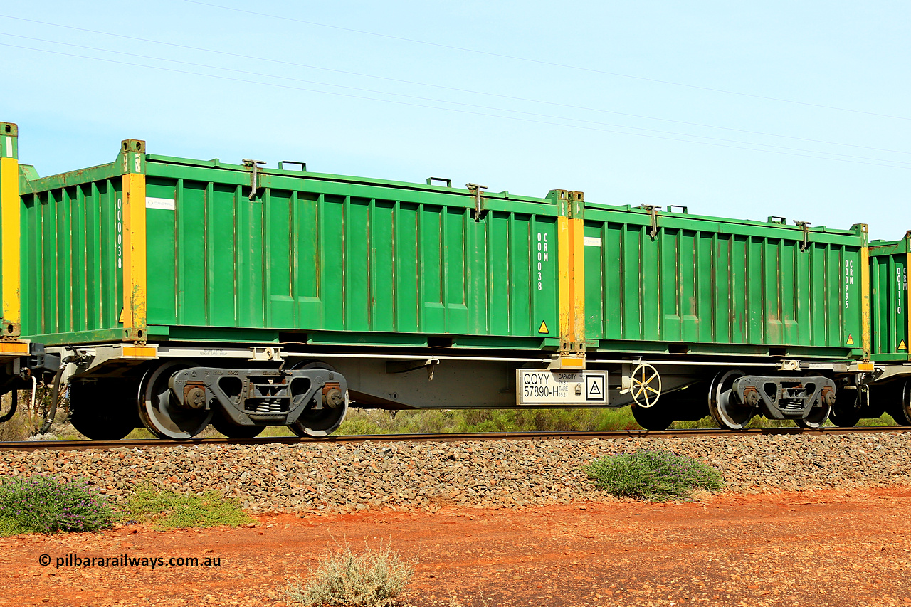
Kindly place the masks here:
<instances>
[{"instance_id":1,"label":"purple-flowered bush at the left edge beside the ballast","mask_svg":"<svg viewBox=\"0 0 911 607\"><path fill-rule=\"evenodd\" d=\"M0 481L0 535L94 531L109 527L114 513L84 480L54 477Z\"/></svg>"}]
</instances>

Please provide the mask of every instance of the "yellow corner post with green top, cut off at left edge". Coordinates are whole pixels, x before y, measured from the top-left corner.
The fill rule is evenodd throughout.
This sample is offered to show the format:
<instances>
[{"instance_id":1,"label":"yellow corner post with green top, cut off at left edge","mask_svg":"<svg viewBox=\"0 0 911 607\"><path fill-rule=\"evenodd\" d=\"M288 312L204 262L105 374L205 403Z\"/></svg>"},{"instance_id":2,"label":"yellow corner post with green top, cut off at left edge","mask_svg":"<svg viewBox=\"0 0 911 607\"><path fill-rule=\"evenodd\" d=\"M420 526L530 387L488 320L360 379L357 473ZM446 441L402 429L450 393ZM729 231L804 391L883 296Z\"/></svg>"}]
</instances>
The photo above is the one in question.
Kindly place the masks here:
<instances>
[{"instance_id":1,"label":"yellow corner post with green top, cut off at left edge","mask_svg":"<svg viewBox=\"0 0 911 607\"><path fill-rule=\"evenodd\" d=\"M0 122L0 273L3 289L3 327L0 335L21 332L22 294L20 277L19 131L11 122Z\"/></svg>"}]
</instances>

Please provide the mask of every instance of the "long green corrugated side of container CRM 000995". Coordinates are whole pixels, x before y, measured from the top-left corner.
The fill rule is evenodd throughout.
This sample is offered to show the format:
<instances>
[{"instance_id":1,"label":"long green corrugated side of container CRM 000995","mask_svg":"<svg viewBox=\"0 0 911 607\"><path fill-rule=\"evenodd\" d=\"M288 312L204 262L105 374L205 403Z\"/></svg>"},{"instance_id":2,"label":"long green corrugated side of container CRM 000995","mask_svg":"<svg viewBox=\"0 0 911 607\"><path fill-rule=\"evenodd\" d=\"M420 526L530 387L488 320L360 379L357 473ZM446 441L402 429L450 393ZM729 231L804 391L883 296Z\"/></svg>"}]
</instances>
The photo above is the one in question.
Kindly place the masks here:
<instances>
[{"instance_id":1,"label":"long green corrugated side of container CRM 000995","mask_svg":"<svg viewBox=\"0 0 911 607\"><path fill-rule=\"evenodd\" d=\"M652 239L648 213L585 213L590 345L859 355L863 236L812 232L802 252L801 231L772 225L662 214Z\"/></svg>"}]
</instances>

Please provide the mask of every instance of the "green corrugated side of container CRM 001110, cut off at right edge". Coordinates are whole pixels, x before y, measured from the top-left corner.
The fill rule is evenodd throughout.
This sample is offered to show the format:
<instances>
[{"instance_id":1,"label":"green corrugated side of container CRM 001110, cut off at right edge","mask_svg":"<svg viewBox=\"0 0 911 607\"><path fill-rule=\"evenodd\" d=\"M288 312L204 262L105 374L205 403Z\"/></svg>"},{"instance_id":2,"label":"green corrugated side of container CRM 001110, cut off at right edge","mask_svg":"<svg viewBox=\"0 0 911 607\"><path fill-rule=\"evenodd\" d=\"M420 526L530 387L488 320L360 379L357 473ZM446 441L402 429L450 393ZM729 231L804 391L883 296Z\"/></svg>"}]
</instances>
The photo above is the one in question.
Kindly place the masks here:
<instances>
[{"instance_id":1,"label":"green corrugated side of container CRM 001110, cut off at right edge","mask_svg":"<svg viewBox=\"0 0 911 607\"><path fill-rule=\"evenodd\" d=\"M870 246L870 328L877 361L908 358L908 241Z\"/></svg>"}]
</instances>

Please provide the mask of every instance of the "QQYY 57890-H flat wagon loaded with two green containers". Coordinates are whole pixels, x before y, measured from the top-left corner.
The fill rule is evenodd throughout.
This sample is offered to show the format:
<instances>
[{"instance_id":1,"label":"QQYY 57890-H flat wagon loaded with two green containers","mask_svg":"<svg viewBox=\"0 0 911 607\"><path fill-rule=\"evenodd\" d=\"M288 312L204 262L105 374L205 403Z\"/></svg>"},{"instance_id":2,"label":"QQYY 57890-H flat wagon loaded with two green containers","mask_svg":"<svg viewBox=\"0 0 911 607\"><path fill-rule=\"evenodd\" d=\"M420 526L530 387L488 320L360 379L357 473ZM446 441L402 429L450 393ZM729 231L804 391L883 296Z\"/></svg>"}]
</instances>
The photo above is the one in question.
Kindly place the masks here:
<instances>
[{"instance_id":1,"label":"QQYY 57890-H flat wagon loaded with two green containers","mask_svg":"<svg viewBox=\"0 0 911 607\"><path fill-rule=\"evenodd\" d=\"M3 339L35 350L5 386L68 383L88 437L319 437L350 401L813 427L869 357L863 225L181 159L137 139L40 178L0 129L17 188L0 201Z\"/></svg>"}]
</instances>

